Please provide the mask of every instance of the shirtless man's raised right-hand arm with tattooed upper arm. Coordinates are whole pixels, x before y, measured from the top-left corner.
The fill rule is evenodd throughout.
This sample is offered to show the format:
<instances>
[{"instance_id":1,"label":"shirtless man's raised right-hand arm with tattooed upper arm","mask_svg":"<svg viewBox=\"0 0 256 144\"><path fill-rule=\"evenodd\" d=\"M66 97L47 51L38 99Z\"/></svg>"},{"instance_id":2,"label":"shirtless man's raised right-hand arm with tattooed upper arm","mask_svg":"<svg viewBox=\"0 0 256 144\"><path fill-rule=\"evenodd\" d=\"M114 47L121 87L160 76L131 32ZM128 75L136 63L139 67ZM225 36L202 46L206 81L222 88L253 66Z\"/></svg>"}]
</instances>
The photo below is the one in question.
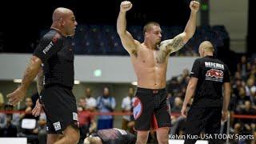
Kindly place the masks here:
<instances>
[{"instance_id":1,"label":"shirtless man's raised right-hand arm with tattooed upper arm","mask_svg":"<svg viewBox=\"0 0 256 144\"><path fill-rule=\"evenodd\" d=\"M191 10L190 19L186 23L185 30L182 32L182 34L178 34L173 39L161 42L161 46L165 46L169 54L180 50L186 44L186 42L188 42L190 38L193 37L196 29L196 15L197 15L199 6L200 6L199 2L191 1L190 2L190 10Z\"/></svg>"}]
</instances>

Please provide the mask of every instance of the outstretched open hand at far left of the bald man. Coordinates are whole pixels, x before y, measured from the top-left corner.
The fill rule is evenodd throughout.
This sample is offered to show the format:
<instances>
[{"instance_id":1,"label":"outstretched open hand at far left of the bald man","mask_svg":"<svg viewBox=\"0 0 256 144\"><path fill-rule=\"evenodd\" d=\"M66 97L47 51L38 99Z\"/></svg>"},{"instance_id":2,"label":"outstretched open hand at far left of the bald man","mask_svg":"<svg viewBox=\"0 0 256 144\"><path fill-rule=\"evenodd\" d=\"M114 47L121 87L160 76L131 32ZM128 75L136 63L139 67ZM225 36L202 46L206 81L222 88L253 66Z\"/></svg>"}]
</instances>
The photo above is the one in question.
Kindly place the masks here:
<instances>
[{"instance_id":1,"label":"outstretched open hand at far left of the bald man","mask_svg":"<svg viewBox=\"0 0 256 144\"><path fill-rule=\"evenodd\" d=\"M11 105L16 106L18 102L21 102L26 95L26 90L22 89L21 86L18 89L14 90L13 93L7 94L7 98L9 98L9 102Z\"/></svg>"}]
</instances>

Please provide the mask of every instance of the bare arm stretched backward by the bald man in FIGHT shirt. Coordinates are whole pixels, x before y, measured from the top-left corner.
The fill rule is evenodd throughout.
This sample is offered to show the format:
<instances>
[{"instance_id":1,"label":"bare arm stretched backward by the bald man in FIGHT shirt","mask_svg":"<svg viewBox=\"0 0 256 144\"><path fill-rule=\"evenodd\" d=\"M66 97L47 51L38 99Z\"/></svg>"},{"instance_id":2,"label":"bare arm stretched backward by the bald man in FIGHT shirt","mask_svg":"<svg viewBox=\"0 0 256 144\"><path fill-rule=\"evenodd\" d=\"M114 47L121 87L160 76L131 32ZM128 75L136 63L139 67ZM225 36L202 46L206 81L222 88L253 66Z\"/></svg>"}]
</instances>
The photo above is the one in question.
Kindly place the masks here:
<instances>
[{"instance_id":1,"label":"bare arm stretched backward by the bald man in FIGHT shirt","mask_svg":"<svg viewBox=\"0 0 256 144\"><path fill-rule=\"evenodd\" d=\"M26 95L26 90L30 86L30 83L37 76L41 63L42 61L38 57L32 56L32 58L30 58L30 64L26 67L21 86L14 90L13 93L7 95L10 104L15 106L18 102L22 101Z\"/></svg>"}]
</instances>

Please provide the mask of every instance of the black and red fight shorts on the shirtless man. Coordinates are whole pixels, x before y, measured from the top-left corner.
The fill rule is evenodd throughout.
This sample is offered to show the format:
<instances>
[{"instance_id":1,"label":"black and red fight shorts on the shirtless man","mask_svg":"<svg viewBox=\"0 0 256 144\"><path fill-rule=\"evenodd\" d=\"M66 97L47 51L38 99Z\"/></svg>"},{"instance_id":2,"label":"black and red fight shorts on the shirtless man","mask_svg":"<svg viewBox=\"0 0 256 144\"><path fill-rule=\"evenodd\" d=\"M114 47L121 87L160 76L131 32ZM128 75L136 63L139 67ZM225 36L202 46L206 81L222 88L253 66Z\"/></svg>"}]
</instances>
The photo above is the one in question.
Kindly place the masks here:
<instances>
[{"instance_id":1,"label":"black and red fight shorts on the shirtless man","mask_svg":"<svg viewBox=\"0 0 256 144\"><path fill-rule=\"evenodd\" d=\"M138 87L133 103L134 130L150 130L150 125L154 130L170 127L170 104L166 103L166 96L166 89Z\"/></svg>"}]
</instances>

